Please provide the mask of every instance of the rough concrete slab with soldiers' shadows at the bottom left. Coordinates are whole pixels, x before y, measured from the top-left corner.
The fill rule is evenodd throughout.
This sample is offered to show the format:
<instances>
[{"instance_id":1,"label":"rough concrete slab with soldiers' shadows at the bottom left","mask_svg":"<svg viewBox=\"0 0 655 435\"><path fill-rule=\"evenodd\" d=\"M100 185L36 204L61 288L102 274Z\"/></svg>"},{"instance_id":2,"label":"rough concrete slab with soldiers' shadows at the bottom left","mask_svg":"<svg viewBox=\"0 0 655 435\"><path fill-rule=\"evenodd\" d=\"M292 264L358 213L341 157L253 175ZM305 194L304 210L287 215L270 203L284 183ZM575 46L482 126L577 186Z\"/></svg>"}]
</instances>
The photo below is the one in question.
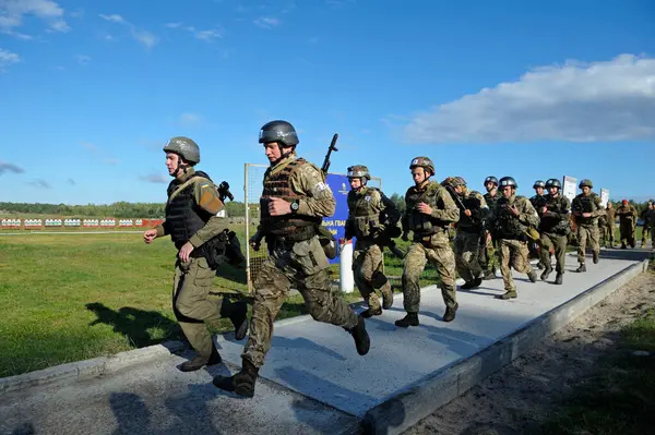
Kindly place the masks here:
<instances>
[{"instance_id":1,"label":"rough concrete slab with soldiers' shadows at the bottom left","mask_svg":"<svg viewBox=\"0 0 655 435\"><path fill-rule=\"evenodd\" d=\"M188 355L191 357L191 355ZM186 358L112 376L50 384L0 397L1 434L346 434L358 421L308 397L258 383L251 400L212 385L225 366L181 373Z\"/></svg>"}]
</instances>

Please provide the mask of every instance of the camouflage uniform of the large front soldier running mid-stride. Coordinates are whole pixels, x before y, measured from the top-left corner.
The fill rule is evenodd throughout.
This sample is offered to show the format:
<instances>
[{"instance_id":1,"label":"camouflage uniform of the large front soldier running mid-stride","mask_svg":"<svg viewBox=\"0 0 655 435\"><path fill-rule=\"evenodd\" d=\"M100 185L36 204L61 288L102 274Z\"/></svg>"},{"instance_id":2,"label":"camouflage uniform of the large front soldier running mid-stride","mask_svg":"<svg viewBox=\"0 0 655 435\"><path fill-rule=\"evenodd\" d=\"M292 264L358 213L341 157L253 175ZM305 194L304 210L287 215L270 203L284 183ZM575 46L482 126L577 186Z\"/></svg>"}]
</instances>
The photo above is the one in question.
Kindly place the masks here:
<instances>
[{"instance_id":1,"label":"camouflage uniform of the large front soldier running mid-stride","mask_svg":"<svg viewBox=\"0 0 655 435\"><path fill-rule=\"evenodd\" d=\"M281 180L281 184L288 180L289 198L299 200L298 217L285 215L275 219L267 216L267 198L281 196L274 191L283 189L273 185L275 179ZM271 349L273 322L291 286L298 289L315 321L344 328L357 325L357 315L349 305L330 290L327 257L314 233L314 226L321 223L322 217L332 216L336 205L321 171L312 164L290 156L266 170L263 184L262 223L258 233L266 237L270 256L254 278L250 337L241 354L255 367L264 364ZM276 234L278 230L281 235Z\"/></svg>"}]
</instances>

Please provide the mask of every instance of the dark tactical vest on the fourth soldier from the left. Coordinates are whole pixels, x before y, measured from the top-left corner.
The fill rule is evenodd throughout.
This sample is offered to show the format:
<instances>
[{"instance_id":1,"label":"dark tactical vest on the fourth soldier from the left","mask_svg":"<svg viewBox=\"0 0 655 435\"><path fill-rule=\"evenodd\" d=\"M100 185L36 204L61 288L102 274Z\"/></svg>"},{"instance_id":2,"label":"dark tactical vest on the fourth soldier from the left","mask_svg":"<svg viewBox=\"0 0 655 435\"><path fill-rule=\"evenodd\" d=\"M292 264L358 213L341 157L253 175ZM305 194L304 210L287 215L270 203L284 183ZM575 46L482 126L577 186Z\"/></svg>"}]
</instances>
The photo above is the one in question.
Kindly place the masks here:
<instances>
[{"instance_id":1,"label":"dark tactical vest on the fourth soldier from the left","mask_svg":"<svg viewBox=\"0 0 655 435\"><path fill-rule=\"evenodd\" d=\"M429 235L444 231L449 227L450 222L419 213L416 209L419 203L426 203L432 208L445 208L445 204L443 204L440 195L442 189L438 182L431 181L424 190L418 190L414 186L407 191L405 203L409 214L408 225L414 233Z\"/></svg>"}]
</instances>

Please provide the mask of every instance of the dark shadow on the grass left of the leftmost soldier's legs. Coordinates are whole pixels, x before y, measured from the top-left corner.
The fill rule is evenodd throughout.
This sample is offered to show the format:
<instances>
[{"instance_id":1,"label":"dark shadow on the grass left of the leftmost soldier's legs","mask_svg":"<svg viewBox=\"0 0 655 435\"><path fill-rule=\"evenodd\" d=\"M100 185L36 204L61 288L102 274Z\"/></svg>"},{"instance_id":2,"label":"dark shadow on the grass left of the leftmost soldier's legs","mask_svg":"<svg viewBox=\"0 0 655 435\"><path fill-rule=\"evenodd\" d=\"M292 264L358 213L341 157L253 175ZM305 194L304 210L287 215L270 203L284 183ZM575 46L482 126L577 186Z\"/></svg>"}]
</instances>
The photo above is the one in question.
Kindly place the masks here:
<instances>
[{"instance_id":1,"label":"dark shadow on the grass left of the leftmost soldier's legs","mask_svg":"<svg viewBox=\"0 0 655 435\"><path fill-rule=\"evenodd\" d=\"M184 340L177 322L159 312L144 311L131 306L123 306L115 311L99 302L87 303L85 306L86 310L97 316L90 326L97 324L110 325L114 327L115 333L121 334L139 348L158 345L167 340ZM159 329L163 334L157 334L155 338L153 333L148 331L151 328Z\"/></svg>"}]
</instances>

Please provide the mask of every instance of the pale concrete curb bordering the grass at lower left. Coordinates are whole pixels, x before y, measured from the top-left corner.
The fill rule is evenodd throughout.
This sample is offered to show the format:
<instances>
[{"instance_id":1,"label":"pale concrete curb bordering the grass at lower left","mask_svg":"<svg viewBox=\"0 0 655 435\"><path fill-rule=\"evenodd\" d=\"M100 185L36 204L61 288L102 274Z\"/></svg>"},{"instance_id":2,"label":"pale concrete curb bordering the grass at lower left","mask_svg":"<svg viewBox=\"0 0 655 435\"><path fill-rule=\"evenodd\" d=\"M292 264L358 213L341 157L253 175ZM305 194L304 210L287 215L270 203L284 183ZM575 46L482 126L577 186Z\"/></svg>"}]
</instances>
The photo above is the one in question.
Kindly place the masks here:
<instances>
[{"instance_id":1,"label":"pale concrete curb bordering the grass at lower left","mask_svg":"<svg viewBox=\"0 0 655 435\"><path fill-rule=\"evenodd\" d=\"M162 345L133 349L110 357L94 358L55 365L21 375L2 377L0 378L0 394L55 382L75 382L108 375L136 364L170 357L170 354L183 350L184 347L182 341L166 341Z\"/></svg>"}]
</instances>

